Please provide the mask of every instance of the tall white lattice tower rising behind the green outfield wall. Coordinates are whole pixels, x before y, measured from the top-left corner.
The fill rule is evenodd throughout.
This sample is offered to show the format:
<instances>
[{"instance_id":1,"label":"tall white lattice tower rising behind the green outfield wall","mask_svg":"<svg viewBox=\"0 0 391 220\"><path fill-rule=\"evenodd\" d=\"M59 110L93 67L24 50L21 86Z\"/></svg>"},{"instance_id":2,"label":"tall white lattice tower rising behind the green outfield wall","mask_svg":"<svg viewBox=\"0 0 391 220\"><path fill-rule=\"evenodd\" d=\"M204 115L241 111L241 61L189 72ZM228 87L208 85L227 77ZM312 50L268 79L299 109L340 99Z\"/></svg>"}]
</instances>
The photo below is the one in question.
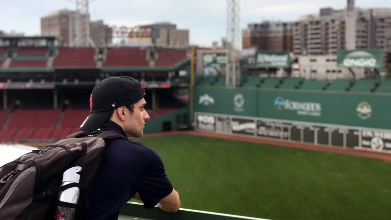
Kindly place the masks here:
<instances>
[{"instance_id":1,"label":"tall white lattice tower rising behind the green outfield wall","mask_svg":"<svg viewBox=\"0 0 391 220\"><path fill-rule=\"evenodd\" d=\"M227 0L227 65L226 86L240 83L239 45L240 45L240 0Z\"/></svg>"}]
</instances>

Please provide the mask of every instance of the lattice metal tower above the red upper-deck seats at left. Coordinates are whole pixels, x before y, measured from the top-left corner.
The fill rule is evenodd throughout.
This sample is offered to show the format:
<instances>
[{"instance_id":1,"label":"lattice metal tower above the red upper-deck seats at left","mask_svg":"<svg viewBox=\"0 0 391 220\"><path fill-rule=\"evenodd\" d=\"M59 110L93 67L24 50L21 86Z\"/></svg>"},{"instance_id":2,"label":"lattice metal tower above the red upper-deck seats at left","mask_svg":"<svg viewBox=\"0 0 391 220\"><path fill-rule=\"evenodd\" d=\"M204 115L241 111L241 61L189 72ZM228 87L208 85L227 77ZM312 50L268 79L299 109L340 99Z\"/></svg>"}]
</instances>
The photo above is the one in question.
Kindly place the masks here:
<instances>
[{"instance_id":1,"label":"lattice metal tower above the red upper-deck seats at left","mask_svg":"<svg viewBox=\"0 0 391 220\"><path fill-rule=\"evenodd\" d=\"M90 37L90 14L88 0L76 0L76 47L88 47L95 44Z\"/></svg>"}]
</instances>

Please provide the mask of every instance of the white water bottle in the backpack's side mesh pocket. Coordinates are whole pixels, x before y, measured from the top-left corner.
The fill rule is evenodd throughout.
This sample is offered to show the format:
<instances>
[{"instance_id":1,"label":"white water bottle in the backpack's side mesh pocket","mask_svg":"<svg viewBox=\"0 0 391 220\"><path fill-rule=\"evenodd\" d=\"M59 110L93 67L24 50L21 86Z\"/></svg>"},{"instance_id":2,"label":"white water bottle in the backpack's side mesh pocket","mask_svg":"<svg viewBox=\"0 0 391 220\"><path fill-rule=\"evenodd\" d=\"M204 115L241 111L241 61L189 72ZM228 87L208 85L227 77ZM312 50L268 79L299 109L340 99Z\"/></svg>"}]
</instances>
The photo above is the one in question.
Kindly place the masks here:
<instances>
[{"instance_id":1,"label":"white water bottle in the backpack's side mesh pocket","mask_svg":"<svg viewBox=\"0 0 391 220\"><path fill-rule=\"evenodd\" d=\"M77 173L81 171L80 166L71 167L63 174L63 183L61 186L71 183L79 183L80 175ZM61 202L68 202L77 204L79 202L80 189L78 187L72 187L65 189L58 193L57 199ZM76 209L65 206L56 207L56 220L74 220L76 218Z\"/></svg>"}]
</instances>

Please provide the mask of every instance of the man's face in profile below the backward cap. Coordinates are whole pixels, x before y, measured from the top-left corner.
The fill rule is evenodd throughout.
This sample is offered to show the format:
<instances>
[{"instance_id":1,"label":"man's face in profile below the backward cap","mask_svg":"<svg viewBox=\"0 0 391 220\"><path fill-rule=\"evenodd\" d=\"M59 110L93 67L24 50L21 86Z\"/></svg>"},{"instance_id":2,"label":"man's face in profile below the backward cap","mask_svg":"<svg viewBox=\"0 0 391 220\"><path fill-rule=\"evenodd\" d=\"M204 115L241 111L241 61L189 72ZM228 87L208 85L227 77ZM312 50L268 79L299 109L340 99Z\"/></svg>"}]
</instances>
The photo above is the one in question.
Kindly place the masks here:
<instances>
[{"instance_id":1,"label":"man's face in profile below the backward cap","mask_svg":"<svg viewBox=\"0 0 391 220\"><path fill-rule=\"evenodd\" d=\"M124 129L128 137L143 136L145 121L149 119L149 115L144 109L146 104L145 99L140 99L135 103L133 112L126 108L129 117L127 117Z\"/></svg>"}]
</instances>

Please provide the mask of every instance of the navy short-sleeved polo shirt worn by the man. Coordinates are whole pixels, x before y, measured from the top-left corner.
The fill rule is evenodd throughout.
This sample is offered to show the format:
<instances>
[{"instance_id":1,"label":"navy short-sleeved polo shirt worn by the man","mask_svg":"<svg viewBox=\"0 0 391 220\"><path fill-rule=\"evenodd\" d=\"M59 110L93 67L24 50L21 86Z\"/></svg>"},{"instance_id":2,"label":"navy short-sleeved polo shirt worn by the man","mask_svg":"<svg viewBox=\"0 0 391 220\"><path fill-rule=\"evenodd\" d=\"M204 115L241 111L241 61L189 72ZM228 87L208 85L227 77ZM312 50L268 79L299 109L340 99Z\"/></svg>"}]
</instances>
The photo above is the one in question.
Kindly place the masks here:
<instances>
[{"instance_id":1,"label":"navy short-sleeved polo shirt worn by the man","mask_svg":"<svg viewBox=\"0 0 391 220\"><path fill-rule=\"evenodd\" d=\"M113 121L100 130L125 131ZM119 209L138 192L144 207L151 209L172 192L159 155L143 144L126 139L108 139L90 189L90 208L83 219L117 220Z\"/></svg>"}]
</instances>

